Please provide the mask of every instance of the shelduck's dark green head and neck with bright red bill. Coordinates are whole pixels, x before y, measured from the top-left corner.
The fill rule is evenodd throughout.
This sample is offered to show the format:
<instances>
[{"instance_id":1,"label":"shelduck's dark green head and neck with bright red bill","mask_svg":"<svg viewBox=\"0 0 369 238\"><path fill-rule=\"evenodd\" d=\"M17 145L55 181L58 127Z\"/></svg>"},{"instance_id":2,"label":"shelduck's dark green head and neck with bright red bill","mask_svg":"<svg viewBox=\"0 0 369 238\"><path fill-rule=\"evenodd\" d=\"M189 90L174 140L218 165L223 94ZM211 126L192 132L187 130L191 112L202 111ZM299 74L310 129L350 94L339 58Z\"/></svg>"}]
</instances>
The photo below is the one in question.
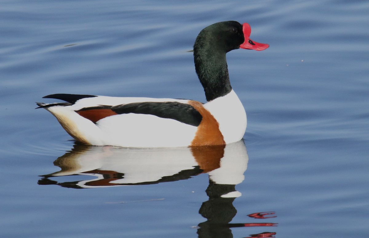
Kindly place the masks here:
<instances>
[{"instance_id":1,"label":"shelduck's dark green head and neck with bright red bill","mask_svg":"<svg viewBox=\"0 0 369 238\"><path fill-rule=\"evenodd\" d=\"M225 54L235 49L265 50L268 44L250 39L249 24L237 21L218 22L204 28L196 38L193 56L196 73L203 85L206 100L231 92Z\"/></svg>"}]
</instances>

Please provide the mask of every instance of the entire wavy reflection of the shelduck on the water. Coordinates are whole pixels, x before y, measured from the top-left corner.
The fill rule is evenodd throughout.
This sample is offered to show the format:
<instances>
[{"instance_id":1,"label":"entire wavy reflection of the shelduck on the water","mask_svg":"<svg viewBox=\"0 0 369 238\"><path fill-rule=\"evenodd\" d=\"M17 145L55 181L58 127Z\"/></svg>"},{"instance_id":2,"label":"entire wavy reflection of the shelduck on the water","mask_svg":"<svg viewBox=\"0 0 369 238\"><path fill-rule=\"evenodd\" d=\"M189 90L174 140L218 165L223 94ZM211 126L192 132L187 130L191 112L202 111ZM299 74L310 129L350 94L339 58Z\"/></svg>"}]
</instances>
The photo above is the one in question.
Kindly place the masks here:
<instances>
[{"instance_id":1,"label":"entire wavy reflection of the shelduck on the water","mask_svg":"<svg viewBox=\"0 0 369 238\"><path fill-rule=\"evenodd\" d=\"M206 189L208 201L199 213L207 220L198 225L197 234L205 237L233 237L232 227L273 226L274 223L230 223L237 213L233 206L241 193L235 186L244 180L248 155L243 141L220 146L192 148L125 149L111 146L76 144L72 151L54 161L61 171L44 175L39 184L57 184L69 188L98 188L122 185L157 184L189 179L201 173L209 174ZM56 182L52 177L92 175L92 180ZM85 176L81 176L85 178ZM250 214L254 218L268 218L265 214ZM251 237L273 237L263 232Z\"/></svg>"}]
</instances>

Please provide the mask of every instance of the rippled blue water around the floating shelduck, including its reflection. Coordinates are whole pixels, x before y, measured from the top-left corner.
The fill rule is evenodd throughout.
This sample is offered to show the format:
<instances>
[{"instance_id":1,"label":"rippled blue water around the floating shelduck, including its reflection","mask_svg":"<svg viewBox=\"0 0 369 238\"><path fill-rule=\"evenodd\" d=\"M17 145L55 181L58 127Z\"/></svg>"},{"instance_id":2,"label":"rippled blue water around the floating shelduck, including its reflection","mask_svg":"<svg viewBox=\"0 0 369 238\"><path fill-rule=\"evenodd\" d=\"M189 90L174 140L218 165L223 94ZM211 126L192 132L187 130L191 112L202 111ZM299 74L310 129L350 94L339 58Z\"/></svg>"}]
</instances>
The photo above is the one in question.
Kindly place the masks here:
<instances>
[{"instance_id":1,"label":"rippled blue water around the floating shelduck, including its reflection","mask_svg":"<svg viewBox=\"0 0 369 238\"><path fill-rule=\"evenodd\" d=\"M368 12L360 0L3 1L1 237L366 237ZM244 144L211 158L85 147L34 110L52 93L204 101L187 51L225 20L270 44L227 54ZM64 176L49 177L58 161Z\"/></svg>"}]
</instances>

